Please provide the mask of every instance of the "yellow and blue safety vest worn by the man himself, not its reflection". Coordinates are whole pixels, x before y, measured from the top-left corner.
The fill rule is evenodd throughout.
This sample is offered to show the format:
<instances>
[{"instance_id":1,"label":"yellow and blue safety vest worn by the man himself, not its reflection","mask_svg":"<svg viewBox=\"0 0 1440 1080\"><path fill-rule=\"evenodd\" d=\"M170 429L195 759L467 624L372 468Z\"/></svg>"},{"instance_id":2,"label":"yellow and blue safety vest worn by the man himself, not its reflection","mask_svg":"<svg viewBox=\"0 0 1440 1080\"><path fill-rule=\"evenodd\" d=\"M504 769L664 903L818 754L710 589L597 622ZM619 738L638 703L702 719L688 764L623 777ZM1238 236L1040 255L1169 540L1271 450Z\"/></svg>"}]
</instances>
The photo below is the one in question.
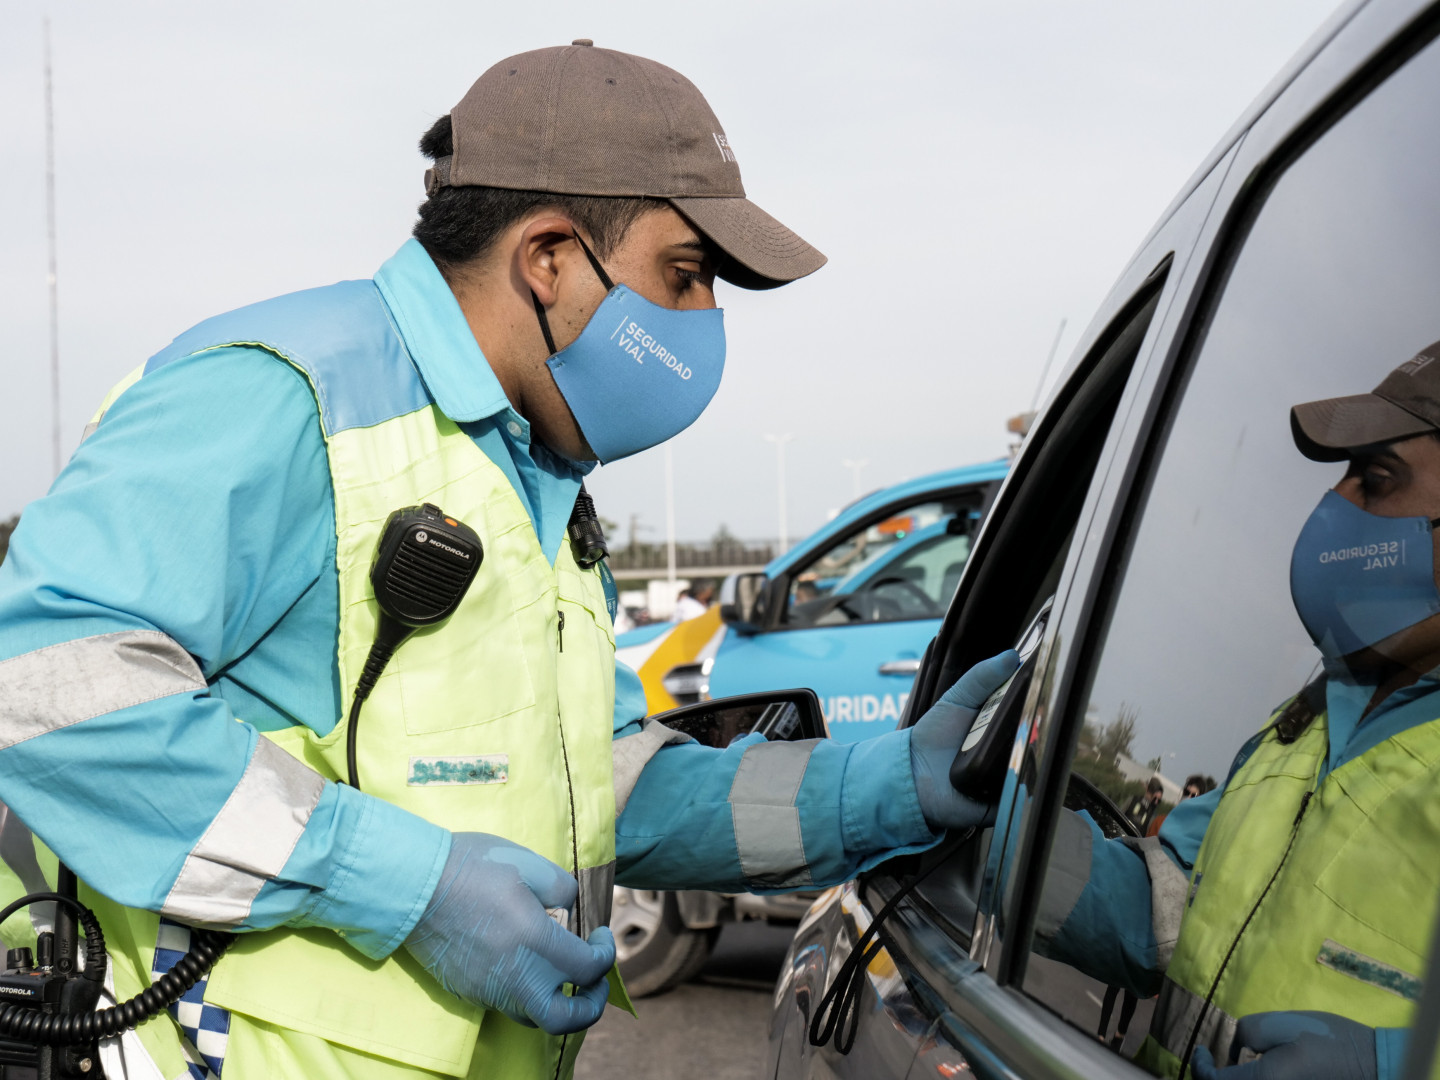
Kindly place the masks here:
<instances>
[{"instance_id":1,"label":"yellow and blue safety vest worn by the man himself, not its reflection","mask_svg":"<svg viewBox=\"0 0 1440 1080\"><path fill-rule=\"evenodd\" d=\"M217 336L210 340L197 340L209 325L202 324L157 360L251 344L310 379L334 484L344 704L374 635L369 567L386 517L433 503L480 534L484 562L455 615L412 635L364 706L361 785L451 831L498 834L576 871L576 914L588 932L608 920L615 860L615 638L599 575L580 570L564 543L554 564L546 562L504 472L429 402L370 282L284 300L291 307L304 300L307 314L314 308L323 323L337 297L328 311L341 310L344 320L331 320L333 337L318 346L314 333L301 333L297 350L276 331L292 314L269 318L266 310L278 304L269 301L246 310L255 312L249 324L243 311L215 320ZM366 380L374 377L374 364L366 370L350 361L373 356L377 340L390 361L382 373L386 384L372 393ZM154 366L151 360L150 370ZM105 408L134 380L122 382ZM359 399L367 402L364 423L354 422ZM343 402L351 402L348 412L337 405ZM386 402L402 405L387 409ZM276 446L276 454L285 452ZM328 681L330 674L315 677ZM346 772L343 721L325 737L307 727L265 734L327 779ZM451 768L478 757L488 765ZM455 782L467 773L480 782ZM89 890L84 899L101 916L118 994L148 985L157 916L120 909ZM615 995L622 996L618 982ZM320 929L242 935L216 965L206 1001L248 1021L242 1045L232 1037L225 1080L275 1080L302 1066L323 1071L324 1061L281 1051L285 1031L374 1056L346 1056L351 1076L413 1076L409 1066L487 1080L549 1080L569 1074L580 1044L576 1035L552 1038L465 1005L403 948L386 960L369 960ZM167 1017L140 1031L167 1076L183 1071L177 1030Z\"/></svg>"}]
</instances>

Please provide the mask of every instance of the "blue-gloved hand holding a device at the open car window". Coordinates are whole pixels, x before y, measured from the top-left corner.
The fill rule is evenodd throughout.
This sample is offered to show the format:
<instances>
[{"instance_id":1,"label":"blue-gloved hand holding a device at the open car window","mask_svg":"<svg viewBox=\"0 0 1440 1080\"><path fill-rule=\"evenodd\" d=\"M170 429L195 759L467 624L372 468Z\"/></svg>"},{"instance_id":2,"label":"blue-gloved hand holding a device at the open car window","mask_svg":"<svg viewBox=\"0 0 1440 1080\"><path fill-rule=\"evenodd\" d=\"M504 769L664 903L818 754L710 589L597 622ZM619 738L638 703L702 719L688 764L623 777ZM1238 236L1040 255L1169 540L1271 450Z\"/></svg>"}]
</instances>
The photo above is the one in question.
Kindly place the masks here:
<instances>
[{"instance_id":1,"label":"blue-gloved hand holding a device at the open car window","mask_svg":"<svg viewBox=\"0 0 1440 1080\"><path fill-rule=\"evenodd\" d=\"M982 824L991 806L965 798L950 783L950 765L975 721L985 698L1015 674L1020 655L1007 649L981 661L910 729L910 770L920 796L920 811L935 829L969 828Z\"/></svg>"}]
</instances>

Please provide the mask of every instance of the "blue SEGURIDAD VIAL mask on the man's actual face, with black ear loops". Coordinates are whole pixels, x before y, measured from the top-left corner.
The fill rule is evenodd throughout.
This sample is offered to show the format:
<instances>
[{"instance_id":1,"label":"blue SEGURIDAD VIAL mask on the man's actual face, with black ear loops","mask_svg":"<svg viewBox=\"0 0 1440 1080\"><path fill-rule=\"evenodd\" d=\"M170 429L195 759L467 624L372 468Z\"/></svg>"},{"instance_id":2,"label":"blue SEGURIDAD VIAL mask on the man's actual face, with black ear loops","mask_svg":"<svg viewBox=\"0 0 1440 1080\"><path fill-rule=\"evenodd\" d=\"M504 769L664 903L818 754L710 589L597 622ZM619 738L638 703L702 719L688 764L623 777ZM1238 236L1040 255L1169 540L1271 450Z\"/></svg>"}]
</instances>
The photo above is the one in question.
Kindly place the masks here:
<instances>
[{"instance_id":1,"label":"blue SEGURIDAD VIAL mask on the man's actual face, with black ear loops","mask_svg":"<svg viewBox=\"0 0 1440 1080\"><path fill-rule=\"evenodd\" d=\"M580 433L602 462L619 461L700 419L724 372L724 312L651 304L613 284L579 233L575 239L609 292L560 351L537 297L536 315L552 353L546 364Z\"/></svg>"}]
</instances>

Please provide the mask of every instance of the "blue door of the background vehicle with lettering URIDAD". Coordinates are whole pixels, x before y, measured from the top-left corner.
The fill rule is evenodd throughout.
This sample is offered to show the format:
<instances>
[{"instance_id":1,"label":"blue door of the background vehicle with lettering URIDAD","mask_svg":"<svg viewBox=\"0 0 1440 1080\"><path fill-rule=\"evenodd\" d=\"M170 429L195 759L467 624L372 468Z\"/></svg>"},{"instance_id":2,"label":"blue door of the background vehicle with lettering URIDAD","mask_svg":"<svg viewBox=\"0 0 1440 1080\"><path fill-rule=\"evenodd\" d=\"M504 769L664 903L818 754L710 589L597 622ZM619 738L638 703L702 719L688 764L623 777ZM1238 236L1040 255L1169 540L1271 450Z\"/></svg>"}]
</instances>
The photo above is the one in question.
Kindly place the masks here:
<instances>
[{"instance_id":1,"label":"blue door of the background vehicle with lettering URIDAD","mask_svg":"<svg viewBox=\"0 0 1440 1080\"><path fill-rule=\"evenodd\" d=\"M769 586L766 626L726 636L711 697L811 687L832 739L891 730L926 645L955 595L985 495L981 481L901 491L788 560Z\"/></svg>"}]
</instances>

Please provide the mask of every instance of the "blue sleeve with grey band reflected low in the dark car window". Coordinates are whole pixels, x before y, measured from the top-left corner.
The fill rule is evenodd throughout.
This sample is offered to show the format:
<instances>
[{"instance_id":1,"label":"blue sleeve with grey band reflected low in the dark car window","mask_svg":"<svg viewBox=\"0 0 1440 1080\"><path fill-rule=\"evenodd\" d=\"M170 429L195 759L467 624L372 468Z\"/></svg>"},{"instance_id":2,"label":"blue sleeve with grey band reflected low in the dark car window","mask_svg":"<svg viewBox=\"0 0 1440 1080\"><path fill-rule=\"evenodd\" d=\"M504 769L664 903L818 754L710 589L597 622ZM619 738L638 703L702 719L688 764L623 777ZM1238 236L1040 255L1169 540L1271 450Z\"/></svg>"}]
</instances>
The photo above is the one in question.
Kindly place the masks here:
<instances>
[{"instance_id":1,"label":"blue sleeve with grey band reflected low in the dark car window","mask_svg":"<svg viewBox=\"0 0 1440 1080\"><path fill-rule=\"evenodd\" d=\"M1146 840L1106 840L1089 814L1064 811L1035 917L1037 950L1140 996L1159 992L1220 795L1185 799Z\"/></svg>"}]
</instances>

